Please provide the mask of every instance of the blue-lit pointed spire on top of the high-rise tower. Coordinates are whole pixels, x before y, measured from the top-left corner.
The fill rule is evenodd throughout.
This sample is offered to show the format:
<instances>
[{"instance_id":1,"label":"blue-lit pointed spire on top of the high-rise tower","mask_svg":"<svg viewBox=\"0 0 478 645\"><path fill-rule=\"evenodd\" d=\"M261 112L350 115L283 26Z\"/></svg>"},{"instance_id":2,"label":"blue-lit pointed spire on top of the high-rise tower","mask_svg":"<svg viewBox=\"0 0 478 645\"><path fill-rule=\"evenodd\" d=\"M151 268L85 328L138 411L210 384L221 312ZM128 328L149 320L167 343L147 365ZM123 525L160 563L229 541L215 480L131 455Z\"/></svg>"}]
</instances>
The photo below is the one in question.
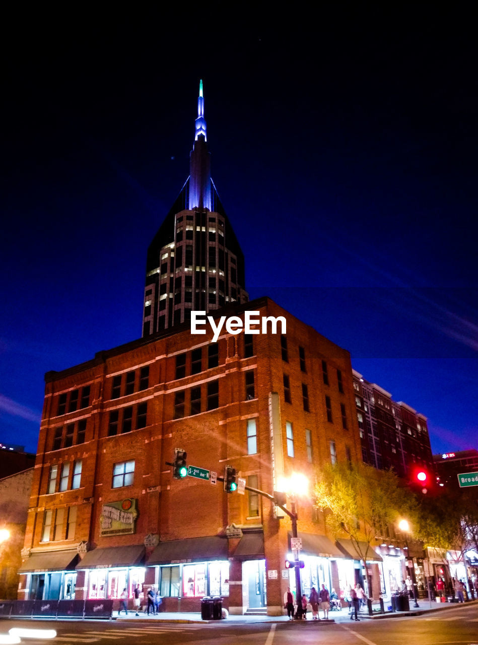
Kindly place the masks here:
<instances>
[{"instance_id":1,"label":"blue-lit pointed spire on top of the high-rise tower","mask_svg":"<svg viewBox=\"0 0 478 645\"><path fill-rule=\"evenodd\" d=\"M189 163L188 209L211 208L211 163L206 144L206 119L204 119L203 81L199 82L197 97L197 119L195 121L194 146Z\"/></svg>"}]
</instances>

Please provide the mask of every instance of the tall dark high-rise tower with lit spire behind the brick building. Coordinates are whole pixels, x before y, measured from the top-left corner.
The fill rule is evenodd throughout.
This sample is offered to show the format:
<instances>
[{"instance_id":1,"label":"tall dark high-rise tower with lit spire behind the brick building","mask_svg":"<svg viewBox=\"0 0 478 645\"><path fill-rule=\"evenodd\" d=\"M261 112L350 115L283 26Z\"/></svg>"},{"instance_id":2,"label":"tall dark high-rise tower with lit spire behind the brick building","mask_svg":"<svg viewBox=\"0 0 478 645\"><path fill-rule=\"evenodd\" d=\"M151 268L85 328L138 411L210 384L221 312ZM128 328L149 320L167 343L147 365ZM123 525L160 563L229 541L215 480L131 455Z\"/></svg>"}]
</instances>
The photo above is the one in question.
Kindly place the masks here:
<instances>
[{"instance_id":1,"label":"tall dark high-rise tower with lit spire behind the brick building","mask_svg":"<svg viewBox=\"0 0 478 645\"><path fill-rule=\"evenodd\" d=\"M199 84L190 175L148 248L143 336L183 323L191 310L244 303L244 255L210 173Z\"/></svg>"}]
</instances>

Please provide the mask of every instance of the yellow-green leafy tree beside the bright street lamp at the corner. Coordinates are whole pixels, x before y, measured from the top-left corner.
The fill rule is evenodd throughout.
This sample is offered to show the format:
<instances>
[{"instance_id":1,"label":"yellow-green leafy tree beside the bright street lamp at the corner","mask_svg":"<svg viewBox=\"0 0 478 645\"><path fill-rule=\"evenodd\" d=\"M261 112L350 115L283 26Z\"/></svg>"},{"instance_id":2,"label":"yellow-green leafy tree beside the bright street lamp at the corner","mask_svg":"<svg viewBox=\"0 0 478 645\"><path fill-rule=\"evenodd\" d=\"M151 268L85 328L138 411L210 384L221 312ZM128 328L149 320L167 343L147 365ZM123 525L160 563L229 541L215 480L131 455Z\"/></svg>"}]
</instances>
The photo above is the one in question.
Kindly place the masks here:
<instances>
[{"instance_id":1,"label":"yellow-green leafy tree beside the bright street lamp at the corner","mask_svg":"<svg viewBox=\"0 0 478 645\"><path fill-rule=\"evenodd\" d=\"M399 515L415 518L415 501L391 470L377 470L367 464L326 464L317 473L315 506L326 513L326 524L335 539L345 534L354 545L365 568L368 590L372 580L367 560L375 536L384 535Z\"/></svg>"}]
</instances>

